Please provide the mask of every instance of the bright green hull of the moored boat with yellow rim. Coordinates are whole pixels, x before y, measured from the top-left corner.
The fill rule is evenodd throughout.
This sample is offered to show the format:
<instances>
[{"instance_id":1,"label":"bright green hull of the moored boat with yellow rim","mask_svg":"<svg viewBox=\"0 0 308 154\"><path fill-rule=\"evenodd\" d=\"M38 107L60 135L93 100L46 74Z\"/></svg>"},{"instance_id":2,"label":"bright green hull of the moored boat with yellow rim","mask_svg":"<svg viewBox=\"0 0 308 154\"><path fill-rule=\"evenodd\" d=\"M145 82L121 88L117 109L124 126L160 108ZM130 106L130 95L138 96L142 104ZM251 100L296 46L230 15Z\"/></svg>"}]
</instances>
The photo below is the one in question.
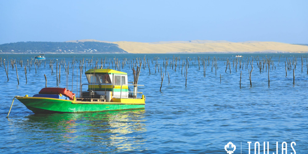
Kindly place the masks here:
<instances>
[{"instance_id":1,"label":"bright green hull of the moored boat with yellow rim","mask_svg":"<svg viewBox=\"0 0 308 154\"><path fill-rule=\"evenodd\" d=\"M17 97L34 113L76 113L144 109L145 103L80 102L42 97Z\"/></svg>"}]
</instances>

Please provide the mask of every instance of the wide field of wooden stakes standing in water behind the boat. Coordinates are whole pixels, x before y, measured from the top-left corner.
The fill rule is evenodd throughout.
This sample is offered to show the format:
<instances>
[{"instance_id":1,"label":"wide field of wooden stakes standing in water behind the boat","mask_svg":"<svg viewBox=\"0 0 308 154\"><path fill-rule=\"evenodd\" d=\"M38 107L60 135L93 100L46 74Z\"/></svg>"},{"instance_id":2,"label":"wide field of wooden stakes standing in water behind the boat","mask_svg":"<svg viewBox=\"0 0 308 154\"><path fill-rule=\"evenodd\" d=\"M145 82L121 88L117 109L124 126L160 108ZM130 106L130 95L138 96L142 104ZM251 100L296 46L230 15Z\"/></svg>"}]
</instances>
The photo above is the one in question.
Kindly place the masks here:
<instances>
[{"instance_id":1,"label":"wide field of wooden stakes standing in water behind the boat","mask_svg":"<svg viewBox=\"0 0 308 154\"><path fill-rule=\"evenodd\" d=\"M303 71L303 65L304 65L304 60L306 59L306 68L307 68L307 74L308 74L308 63L307 63L307 56L301 56L301 57L293 57L293 59L288 59L287 57L284 58L285 60L285 70L286 70L286 76L287 76L287 70L292 70L293 69L293 84L295 83L295 75L294 75L294 69L296 69L296 66L298 64L298 59L301 59L301 66L302 66L302 71ZM188 72L188 68L189 68L189 64L191 63L190 66L193 67L197 67L199 70L203 69L203 76L206 76L206 69L208 67L211 66L211 72L215 71L215 75L217 75L217 70L218 70L218 63L217 61L222 61L224 62L225 65L225 73L227 73L227 71L230 72L231 74L231 69L234 71L240 71L243 70L245 68L245 70L248 69L248 73L249 73L249 81L250 81L250 87L252 86L252 82L251 82L251 73L253 71L253 67L257 65L258 71L267 71L268 72L268 85L270 86L270 68L274 71L276 70L276 65L279 66L280 64L280 60L281 60L281 55L279 55L279 59L278 61L272 60L272 57L261 57L259 58L259 56L254 56L254 57L204 57L204 56L197 56L197 57L193 57L193 58L189 58L189 57L185 57L184 59L181 60L180 56L174 56L173 58L169 60L169 57L165 57L162 60L159 59L157 56L153 57L152 59L148 59L146 58L146 56L144 55L144 57L140 58L134 58L134 59L128 59L128 58L123 58L123 59L119 59L119 58L109 58L107 59L107 57L105 58L101 58L101 59L93 59L93 56L91 59L75 59L73 58L71 61L68 61L66 59L50 59L49 63L46 60L35 60L35 59L20 59L20 60L16 60L16 59L5 59L3 57L0 57L0 67L4 67L4 70L6 72L6 77L7 80L9 81L9 67L11 67L13 70L15 68L16 70L16 75L17 75L17 82L19 85L19 79L18 79L18 71L17 71L17 67L19 66L19 68L22 68L25 72L25 77L26 77L26 83L27 83L27 73L28 71L30 72L31 68L35 69L35 74L37 73L37 69L40 69L41 67L46 68L46 62L47 65L49 64L49 68L50 68L50 72L51 75L54 73L54 65L56 67L56 85L59 86L60 83L60 78L61 78L61 67L65 69L65 75L66 75L66 87L68 88L68 78L69 78L69 69L72 69L72 72L74 72L74 68L76 70L76 78L77 78L77 83L78 83L78 78L79 78L79 90L82 89L82 83L81 83L81 75L83 74L83 71L86 71L86 69L88 68L95 68L95 69L99 69L99 68L108 68L108 69L115 69L118 71L121 71L121 69L123 69L124 67L128 67L128 69L132 69L133 70L133 75L134 75L134 81L136 82L137 75L139 76L140 73L140 69L143 68L144 70L146 70L146 67L148 67L148 73L151 74L151 70L155 71L156 73L156 67L158 69L158 72L160 72L161 75L161 85L160 85L160 91L161 91L161 87L162 87L162 83L164 80L164 75L168 74L168 83L170 83L170 79L169 79L169 72L170 70L176 71L177 67L178 69L181 69L181 74L183 74L183 68L184 68L184 76L185 76L185 87L187 87L187 72ZM71 62L71 63L70 63ZM161 67L160 63L163 63L163 68ZM232 64L231 64L232 63ZM17 65L18 64L18 65ZM100 64L100 65L99 65ZM221 64L221 63L220 63ZM254 64L254 66L253 66ZM78 66L79 65L79 66ZM196 66L197 65L197 66ZM167 68L169 66L169 69L167 71ZM250 68L251 66L251 68ZM48 66L47 66L48 67ZM180 68L181 67L181 68ZM221 66L224 67L224 66ZM136 70L135 70L136 68ZM28 70L27 70L28 69ZM164 73L163 69L165 70ZM215 69L215 70L214 70ZM59 71L58 71L59 70ZM79 70L79 73L78 73ZM72 87L71 87L71 91L73 90L73 80L74 80L74 74L75 73L71 73L72 75ZM239 81L239 86L241 87L241 75L242 75L242 71L240 74L240 81ZM44 74L45 77L45 86L47 87L47 77L46 74ZM221 74L220 74L220 82L221 82ZM137 84L137 83L135 83ZM78 84L77 84L78 87ZM78 89L78 88L77 88ZM81 93L81 92L80 92ZM78 91L77 91L78 94Z\"/></svg>"}]
</instances>

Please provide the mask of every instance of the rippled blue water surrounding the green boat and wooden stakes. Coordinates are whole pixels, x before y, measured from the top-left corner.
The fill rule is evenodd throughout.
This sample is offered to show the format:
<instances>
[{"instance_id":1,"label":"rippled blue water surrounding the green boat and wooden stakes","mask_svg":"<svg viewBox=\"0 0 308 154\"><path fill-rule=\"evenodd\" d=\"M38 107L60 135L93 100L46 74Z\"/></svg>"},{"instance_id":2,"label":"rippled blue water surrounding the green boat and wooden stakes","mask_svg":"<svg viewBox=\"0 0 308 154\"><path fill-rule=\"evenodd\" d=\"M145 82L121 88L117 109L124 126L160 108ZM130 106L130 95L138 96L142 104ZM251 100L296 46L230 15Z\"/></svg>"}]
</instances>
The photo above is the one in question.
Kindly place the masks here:
<instances>
[{"instance_id":1,"label":"rippled blue water surrounding the green boat and wooden stakes","mask_svg":"<svg viewBox=\"0 0 308 154\"><path fill-rule=\"evenodd\" d=\"M151 75L148 67L141 69L138 84L146 95L144 110L109 111L99 113L72 113L72 114L34 114L18 100L14 101L9 118L6 115L10 109L15 95L32 96L45 87L44 74L47 76L47 87L56 87L56 64L54 74L49 68L50 59L66 61L82 58L100 59L107 57L108 66L114 56L130 60L144 55L136 54L95 54L95 55L67 55L46 54L46 68L41 64L35 74L34 65L27 68L26 83L24 68L18 67L19 85L17 85L16 71L9 66L7 81L3 63L0 67L1 108L0 108L0 153L227 153L225 145L232 142L236 145L235 154L248 154L248 143L251 153L254 153L255 142L260 143L260 152L263 153L263 142L269 142L269 153L282 153L282 142L287 143L287 153L307 153L308 145L308 75L306 57L308 54L242 54L244 64L253 60L251 75L252 87L249 83L248 69L235 70L233 59L236 54L175 54L180 56L175 69L168 66L169 73L164 76L161 92L161 77L155 61L163 68L163 60L169 58L172 62L173 54L148 54ZM0 55L3 59L16 59L17 61L34 57L30 54ZM203 66L200 70L195 58L209 57L210 64L206 66L206 76L203 76ZM212 60L215 56L218 70L211 71ZM270 67L270 87L268 86L268 72L257 67L257 60L271 57L274 68ZM301 66L303 61L303 71ZM189 57L187 87L185 87L184 68L181 73L182 61ZM291 60L297 57L295 69L295 84L293 84L293 70L285 72L286 57ZM226 69L226 58L231 61L231 74ZM196 64L196 66L195 66ZM25 64L24 64L25 65ZM24 66L23 65L23 66ZM246 64L245 64L246 65ZM79 63L76 64L79 66ZM110 62L110 67L111 62ZM87 69L92 68L88 66ZM292 69L294 65L292 64ZM71 72L72 69L70 68ZM128 73L132 81L132 70L128 64L121 68ZM239 87L240 74L241 88ZM76 69L74 69L74 82L77 82ZM163 73L165 69L163 68ZM79 74L79 72L78 72ZM220 78L221 75L221 78ZM69 75L69 89L72 81ZM221 80L221 82L220 82ZM61 83L59 87L66 87L65 69L61 67ZM83 83L86 77L83 75ZM78 81L79 82L79 81ZM73 92L79 87L73 84ZM267 149L267 146L266 146ZM231 148L232 150L232 148ZM266 150L267 151L267 150Z\"/></svg>"}]
</instances>

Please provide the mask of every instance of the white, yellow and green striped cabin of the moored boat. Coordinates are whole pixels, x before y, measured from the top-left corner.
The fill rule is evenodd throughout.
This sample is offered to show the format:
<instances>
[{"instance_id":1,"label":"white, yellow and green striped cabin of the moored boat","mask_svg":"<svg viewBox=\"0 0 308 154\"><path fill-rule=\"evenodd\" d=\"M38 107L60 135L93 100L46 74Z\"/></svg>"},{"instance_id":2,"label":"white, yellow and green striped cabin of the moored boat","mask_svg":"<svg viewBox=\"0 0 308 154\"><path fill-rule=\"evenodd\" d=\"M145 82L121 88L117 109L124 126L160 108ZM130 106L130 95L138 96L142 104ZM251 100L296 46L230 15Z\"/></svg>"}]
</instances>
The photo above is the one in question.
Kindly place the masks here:
<instances>
[{"instance_id":1,"label":"white, yellow and green striped cabin of the moored boat","mask_svg":"<svg viewBox=\"0 0 308 154\"><path fill-rule=\"evenodd\" d=\"M112 69L90 69L85 74L88 80L88 89L87 92L82 93L83 98L129 97L127 73Z\"/></svg>"}]
</instances>

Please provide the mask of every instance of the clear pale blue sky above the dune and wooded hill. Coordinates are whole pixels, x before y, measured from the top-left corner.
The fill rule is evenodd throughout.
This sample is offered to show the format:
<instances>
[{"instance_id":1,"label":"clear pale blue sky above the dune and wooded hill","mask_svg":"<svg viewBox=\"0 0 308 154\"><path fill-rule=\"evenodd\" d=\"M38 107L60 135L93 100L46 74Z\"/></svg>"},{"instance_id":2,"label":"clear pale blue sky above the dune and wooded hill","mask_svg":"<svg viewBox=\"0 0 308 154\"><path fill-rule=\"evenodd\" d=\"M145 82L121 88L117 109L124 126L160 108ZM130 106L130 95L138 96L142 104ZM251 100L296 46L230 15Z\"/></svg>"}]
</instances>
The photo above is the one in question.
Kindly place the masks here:
<instances>
[{"instance_id":1,"label":"clear pale blue sky above the dune and wooded hill","mask_svg":"<svg viewBox=\"0 0 308 154\"><path fill-rule=\"evenodd\" d=\"M306 0L0 0L0 44L227 40L308 44Z\"/></svg>"}]
</instances>

